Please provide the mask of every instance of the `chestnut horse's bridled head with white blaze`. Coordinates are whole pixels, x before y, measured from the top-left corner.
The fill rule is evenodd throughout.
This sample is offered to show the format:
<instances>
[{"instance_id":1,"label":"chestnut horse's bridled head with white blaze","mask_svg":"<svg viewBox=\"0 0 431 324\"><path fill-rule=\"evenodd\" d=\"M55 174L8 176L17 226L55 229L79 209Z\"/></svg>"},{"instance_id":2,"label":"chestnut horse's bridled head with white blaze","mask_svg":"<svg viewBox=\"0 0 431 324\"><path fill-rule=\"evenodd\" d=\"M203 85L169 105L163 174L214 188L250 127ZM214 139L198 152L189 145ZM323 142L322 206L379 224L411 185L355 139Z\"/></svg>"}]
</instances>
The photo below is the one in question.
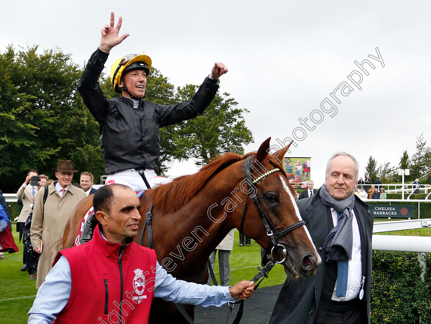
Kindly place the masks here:
<instances>
[{"instance_id":1,"label":"chestnut horse's bridled head with white blaze","mask_svg":"<svg viewBox=\"0 0 431 324\"><path fill-rule=\"evenodd\" d=\"M281 165L288 146L271 155L269 140L262 143L257 154L246 155L246 185L241 189L246 191L247 203L245 212L236 212L232 221L283 264L286 274L314 275L321 258L301 219L295 190Z\"/></svg>"}]
</instances>

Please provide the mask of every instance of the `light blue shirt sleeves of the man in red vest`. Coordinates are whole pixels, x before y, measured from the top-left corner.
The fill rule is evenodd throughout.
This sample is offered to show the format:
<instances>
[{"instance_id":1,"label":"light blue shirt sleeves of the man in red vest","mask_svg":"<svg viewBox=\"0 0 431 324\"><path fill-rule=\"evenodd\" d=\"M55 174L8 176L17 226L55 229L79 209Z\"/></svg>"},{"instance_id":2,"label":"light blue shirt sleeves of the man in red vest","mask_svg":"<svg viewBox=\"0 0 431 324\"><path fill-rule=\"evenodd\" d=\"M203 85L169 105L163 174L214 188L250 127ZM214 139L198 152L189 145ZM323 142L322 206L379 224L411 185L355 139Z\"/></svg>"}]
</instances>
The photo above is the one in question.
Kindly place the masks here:
<instances>
[{"instance_id":1,"label":"light blue shirt sleeves of the man in red vest","mask_svg":"<svg viewBox=\"0 0 431 324\"><path fill-rule=\"evenodd\" d=\"M69 301L72 277L67 258L61 256L38 289L28 312L28 324L51 324ZM156 263L154 297L173 303L220 307L233 301L229 287L198 285L175 279Z\"/></svg>"}]
</instances>

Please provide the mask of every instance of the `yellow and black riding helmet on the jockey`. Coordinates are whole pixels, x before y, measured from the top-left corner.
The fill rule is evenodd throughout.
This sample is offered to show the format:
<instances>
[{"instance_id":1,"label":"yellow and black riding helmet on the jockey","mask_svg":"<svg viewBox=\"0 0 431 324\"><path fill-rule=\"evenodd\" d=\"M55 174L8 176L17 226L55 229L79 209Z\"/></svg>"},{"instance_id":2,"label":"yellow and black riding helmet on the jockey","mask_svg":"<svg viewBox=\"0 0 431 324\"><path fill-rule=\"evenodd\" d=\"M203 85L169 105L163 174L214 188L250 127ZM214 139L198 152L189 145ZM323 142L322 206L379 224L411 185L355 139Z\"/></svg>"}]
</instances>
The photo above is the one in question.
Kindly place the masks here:
<instances>
[{"instance_id":1,"label":"yellow and black riding helmet on the jockey","mask_svg":"<svg viewBox=\"0 0 431 324\"><path fill-rule=\"evenodd\" d=\"M114 91L121 93L119 83L123 73L125 74L129 71L138 69L144 70L147 73L147 76L150 74L151 58L148 55L127 54L115 60L111 67L111 83Z\"/></svg>"}]
</instances>

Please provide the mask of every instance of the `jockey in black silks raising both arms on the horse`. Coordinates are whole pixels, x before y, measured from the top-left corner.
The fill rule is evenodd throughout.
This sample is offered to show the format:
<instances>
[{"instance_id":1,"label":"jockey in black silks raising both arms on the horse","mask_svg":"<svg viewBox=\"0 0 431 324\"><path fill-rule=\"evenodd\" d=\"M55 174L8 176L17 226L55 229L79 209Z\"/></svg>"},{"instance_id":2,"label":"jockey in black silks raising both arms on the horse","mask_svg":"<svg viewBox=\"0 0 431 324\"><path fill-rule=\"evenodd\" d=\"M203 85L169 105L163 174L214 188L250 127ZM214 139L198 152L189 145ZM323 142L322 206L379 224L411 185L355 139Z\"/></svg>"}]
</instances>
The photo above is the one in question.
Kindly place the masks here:
<instances>
[{"instance_id":1,"label":"jockey in black silks raising both arms on the horse","mask_svg":"<svg viewBox=\"0 0 431 324\"><path fill-rule=\"evenodd\" d=\"M223 63L215 63L192 100L162 105L143 99L151 58L144 54L129 54L117 59L111 68L112 87L122 96L107 99L97 79L109 51L129 36L119 36L122 17L115 27L114 21L111 12L110 24L102 29L99 48L91 55L77 89L100 124L100 141L108 174L106 183L126 184L141 191L168 182L156 175L160 156L159 128L202 114L217 93L218 79L227 68Z\"/></svg>"}]
</instances>

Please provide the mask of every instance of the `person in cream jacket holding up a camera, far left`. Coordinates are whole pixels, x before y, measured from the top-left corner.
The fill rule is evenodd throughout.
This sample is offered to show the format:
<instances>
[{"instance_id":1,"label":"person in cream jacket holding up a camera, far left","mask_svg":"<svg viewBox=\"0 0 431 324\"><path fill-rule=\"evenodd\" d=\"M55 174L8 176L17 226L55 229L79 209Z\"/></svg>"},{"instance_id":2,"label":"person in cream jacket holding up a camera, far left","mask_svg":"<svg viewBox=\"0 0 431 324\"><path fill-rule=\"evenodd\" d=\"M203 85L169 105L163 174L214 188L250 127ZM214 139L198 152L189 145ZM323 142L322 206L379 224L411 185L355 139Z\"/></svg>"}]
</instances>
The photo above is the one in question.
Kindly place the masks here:
<instances>
[{"instance_id":1,"label":"person in cream jacket holding up a camera, far left","mask_svg":"<svg viewBox=\"0 0 431 324\"><path fill-rule=\"evenodd\" d=\"M38 177L38 172L36 170L30 170L27 172L26 180L23 185L19 187L18 192L16 192L16 198L21 198L23 200L23 209L21 209L21 213L19 213L18 220L16 221L16 231L19 231L19 241L23 236L23 228L24 224L27 221L28 215L31 212L33 207L34 199L36 198L37 189L39 187L38 181L40 181ZM36 278L36 269L34 263L27 263L28 258L26 257L25 249L23 253L23 267L21 271L28 271L30 278ZM31 258L29 258L31 259Z\"/></svg>"}]
</instances>

